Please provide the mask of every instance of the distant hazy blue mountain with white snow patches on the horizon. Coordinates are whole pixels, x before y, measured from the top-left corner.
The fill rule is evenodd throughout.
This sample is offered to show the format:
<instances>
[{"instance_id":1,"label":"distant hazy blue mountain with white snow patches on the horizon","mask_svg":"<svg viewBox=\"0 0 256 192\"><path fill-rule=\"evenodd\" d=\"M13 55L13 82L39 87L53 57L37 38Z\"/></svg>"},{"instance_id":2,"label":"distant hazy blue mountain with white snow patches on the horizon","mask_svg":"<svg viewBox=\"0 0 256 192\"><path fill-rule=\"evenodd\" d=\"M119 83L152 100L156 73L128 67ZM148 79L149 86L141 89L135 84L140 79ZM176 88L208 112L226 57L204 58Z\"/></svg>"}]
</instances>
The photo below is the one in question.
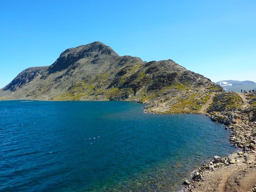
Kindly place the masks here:
<instances>
[{"instance_id":1,"label":"distant hazy blue mountain with white snow patches on the horizon","mask_svg":"<svg viewBox=\"0 0 256 192\"><path fill-rule=\"evenodd\" d=\"M216 82L225 91L241 92L241 90L256 90L256 83L253 81L223 80Z\"/></svg>"}]
</instances>

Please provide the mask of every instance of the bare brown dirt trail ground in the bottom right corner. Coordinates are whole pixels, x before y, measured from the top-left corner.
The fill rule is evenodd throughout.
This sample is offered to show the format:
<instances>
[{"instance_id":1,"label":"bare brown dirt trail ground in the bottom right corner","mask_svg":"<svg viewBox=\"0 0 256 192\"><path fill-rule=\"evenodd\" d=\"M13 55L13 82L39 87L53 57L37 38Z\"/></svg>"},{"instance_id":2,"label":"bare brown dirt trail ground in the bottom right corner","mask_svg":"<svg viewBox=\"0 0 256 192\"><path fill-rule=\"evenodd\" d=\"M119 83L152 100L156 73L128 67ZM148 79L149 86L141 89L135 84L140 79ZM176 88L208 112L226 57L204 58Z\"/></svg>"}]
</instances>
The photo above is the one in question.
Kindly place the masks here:
<instances>
[{"instance_id":1,"label":"bare brown dirt trail ground in the bottom right corner","mask_svg":"<svg viewBox=\"0 0 256 192\"><path fill-rule=\"evenodd\" d=\"M240 158L238 163L205 172L203 181L194 182L192 185L192 188L184 191L255 191L256 166Z\"/></svg>"}]
</instances>

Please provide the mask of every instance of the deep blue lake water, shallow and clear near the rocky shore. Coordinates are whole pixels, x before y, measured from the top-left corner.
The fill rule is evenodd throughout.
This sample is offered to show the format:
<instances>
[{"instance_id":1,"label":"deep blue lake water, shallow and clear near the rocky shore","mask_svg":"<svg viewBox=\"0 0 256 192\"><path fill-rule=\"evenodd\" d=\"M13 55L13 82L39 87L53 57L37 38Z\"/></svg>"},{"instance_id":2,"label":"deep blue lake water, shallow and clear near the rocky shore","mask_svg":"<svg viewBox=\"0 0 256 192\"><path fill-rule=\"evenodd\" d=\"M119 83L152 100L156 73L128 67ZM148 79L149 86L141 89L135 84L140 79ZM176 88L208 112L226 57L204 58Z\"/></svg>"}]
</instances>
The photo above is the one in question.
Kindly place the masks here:
<instances>
[{"instance_id":1,"label":"deep blue lake water, shallow and clear near the rocky shore","mask_svg":"<svg viewBox=\"0 0 256 192\"><path fill-rule=\"evenodd\" d=\"M0 101L0 191L172 191L236 149L204 115L119 101Z\"/></svg>"}]
</instances>

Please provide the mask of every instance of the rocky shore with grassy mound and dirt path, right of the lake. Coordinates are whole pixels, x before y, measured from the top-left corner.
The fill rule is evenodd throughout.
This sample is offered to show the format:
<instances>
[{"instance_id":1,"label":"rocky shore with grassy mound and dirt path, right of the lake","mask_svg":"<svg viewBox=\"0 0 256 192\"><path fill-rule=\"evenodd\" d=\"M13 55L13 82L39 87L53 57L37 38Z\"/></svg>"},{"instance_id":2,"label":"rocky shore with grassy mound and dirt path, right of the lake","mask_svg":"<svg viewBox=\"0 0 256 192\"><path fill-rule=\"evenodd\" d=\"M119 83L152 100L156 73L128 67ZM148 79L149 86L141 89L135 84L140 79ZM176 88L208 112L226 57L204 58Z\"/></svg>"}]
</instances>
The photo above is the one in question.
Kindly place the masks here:
<instances>
[{"instance_id":1,"label":"rocky shore with grassy mound and dirt path, right of the lake","mask_svg":"<svg viewBox=\"0 0 256 192\"><path fill-rule=\"evenodd\" d=\"M219 93L207 116L226 125L241 151L213 157L184 181L183 191L256 191L256 94Z\"/></svg>"}]
</instances>

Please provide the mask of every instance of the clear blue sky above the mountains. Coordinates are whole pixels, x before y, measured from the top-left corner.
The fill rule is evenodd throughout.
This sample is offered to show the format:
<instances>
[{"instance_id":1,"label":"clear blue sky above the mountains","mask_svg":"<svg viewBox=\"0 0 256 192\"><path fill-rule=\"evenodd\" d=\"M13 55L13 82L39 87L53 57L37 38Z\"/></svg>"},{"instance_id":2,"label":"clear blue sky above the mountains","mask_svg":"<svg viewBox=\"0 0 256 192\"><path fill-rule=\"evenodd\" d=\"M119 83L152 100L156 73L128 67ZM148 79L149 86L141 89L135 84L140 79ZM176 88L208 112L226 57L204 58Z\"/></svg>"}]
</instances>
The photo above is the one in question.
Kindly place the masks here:
<instances>
[{"instance_id":1,"label":"clear blue sky above the mountains","mask_svg":"<svg viewBox=\"0 0 256 192\"><path fill-rule=\"evenodd\" d=\"M256 81L255 0L1 0L0 24L0 88L93 41L214 82Z\"/></svg>"}]
</instances>

